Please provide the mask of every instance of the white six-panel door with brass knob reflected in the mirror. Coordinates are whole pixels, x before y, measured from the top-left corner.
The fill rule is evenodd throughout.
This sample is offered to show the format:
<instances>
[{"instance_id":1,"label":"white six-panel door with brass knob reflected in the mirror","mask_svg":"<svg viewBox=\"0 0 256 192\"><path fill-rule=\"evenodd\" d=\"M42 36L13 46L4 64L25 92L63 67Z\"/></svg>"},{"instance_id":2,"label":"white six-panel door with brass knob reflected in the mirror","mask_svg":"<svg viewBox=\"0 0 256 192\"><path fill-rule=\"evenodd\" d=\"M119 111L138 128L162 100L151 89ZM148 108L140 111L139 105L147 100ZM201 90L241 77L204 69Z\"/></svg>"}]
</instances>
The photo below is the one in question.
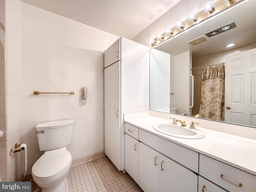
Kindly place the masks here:
<instances>
[{"instance_id":1,"label":"white six-panel door with brass knob reflected in the mirror","mask_svg":"<svg viewBox=\"0 0 256 192\"><path fill-rule=\"evenodd\" d=\"M225 63L225 122L256 126L256 49Z\"/></svg>"}]
</instances>

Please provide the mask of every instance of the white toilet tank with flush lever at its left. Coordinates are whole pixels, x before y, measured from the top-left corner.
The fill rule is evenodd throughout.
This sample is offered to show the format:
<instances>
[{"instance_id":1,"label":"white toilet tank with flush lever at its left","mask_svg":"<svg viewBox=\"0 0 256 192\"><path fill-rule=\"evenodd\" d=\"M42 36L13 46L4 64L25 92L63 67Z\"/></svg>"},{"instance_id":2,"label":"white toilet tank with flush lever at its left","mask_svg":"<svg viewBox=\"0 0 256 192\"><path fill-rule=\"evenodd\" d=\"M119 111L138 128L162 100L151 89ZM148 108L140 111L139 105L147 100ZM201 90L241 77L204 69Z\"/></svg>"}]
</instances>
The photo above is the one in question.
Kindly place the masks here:
<instances>
[{"instance_id":1,"label":"white toilet tank with flush lever at its left","mask_svg":"<svg viewBox=\"0 0 256 192\"><path fill-rule=\"evenodd\" d=\"M72 119L38 123L36 132L40 151L53 150L71 143Z\"/></svg>"}]
</instances>

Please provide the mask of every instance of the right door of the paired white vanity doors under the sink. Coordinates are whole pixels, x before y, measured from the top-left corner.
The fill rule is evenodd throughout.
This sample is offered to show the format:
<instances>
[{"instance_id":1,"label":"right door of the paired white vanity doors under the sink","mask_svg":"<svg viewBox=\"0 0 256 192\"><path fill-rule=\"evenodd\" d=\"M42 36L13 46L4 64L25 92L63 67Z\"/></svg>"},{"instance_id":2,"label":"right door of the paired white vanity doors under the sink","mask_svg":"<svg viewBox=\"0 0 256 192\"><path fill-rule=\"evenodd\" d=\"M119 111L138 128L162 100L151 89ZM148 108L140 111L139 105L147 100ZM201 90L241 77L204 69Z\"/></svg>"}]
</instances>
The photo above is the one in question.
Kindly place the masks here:
<instances>
[{"instance_id":1,"label":"right door of the paired white vanity doors under the sink","mask_svg":"<svg viewBox=\"0 0 256 192\"><path fill-rule=\"evenodd\" d=\"M160 155L160 192L197 192L197 181L194 172Z\"/></svg>"}]
</instances>

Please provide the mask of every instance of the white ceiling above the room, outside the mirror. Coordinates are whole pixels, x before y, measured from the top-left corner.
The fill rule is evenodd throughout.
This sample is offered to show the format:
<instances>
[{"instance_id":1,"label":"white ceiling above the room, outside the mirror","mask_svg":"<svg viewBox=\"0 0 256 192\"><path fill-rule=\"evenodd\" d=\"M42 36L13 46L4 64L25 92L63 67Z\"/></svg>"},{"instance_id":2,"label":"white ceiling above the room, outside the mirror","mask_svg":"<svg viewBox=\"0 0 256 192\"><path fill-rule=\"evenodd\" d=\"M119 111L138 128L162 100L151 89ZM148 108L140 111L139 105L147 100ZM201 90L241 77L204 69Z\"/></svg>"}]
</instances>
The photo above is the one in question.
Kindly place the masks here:
<instances>
[{"instance_id":1,"label":"white ceiling above the room, outside the mirror","mask_svg":"<svg viewBox=\"0 0 256 192\"><path fill-rule=\"evenodd\" d=\"M21 0L80 23L132 39L180 0Z\"/></svg>"}]
</instances>

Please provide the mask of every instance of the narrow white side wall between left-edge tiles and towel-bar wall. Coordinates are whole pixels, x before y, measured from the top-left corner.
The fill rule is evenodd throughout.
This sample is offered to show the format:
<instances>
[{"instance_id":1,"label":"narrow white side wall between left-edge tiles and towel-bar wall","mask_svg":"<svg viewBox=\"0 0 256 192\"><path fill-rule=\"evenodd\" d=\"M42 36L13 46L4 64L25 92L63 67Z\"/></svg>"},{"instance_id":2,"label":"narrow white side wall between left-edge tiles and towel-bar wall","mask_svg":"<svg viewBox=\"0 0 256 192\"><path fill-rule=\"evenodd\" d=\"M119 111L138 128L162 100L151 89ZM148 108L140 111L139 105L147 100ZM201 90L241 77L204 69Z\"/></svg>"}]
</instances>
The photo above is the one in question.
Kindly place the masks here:
<instances>
[{"instance_id":1,"label":"narrow white side wall between left-edge tiles and towel-bar wall","mask_svg":"<svg viewBox=\"0 0 256 192\"><path fill-rule=\"evenodd\" d=\"M7 150L22 142L21 81L21 8L20 2L6 1L6 67L7 67ZM22 176L22 154L7 155L7 180L19 181Z\"/></svg>"}]
</instances>

